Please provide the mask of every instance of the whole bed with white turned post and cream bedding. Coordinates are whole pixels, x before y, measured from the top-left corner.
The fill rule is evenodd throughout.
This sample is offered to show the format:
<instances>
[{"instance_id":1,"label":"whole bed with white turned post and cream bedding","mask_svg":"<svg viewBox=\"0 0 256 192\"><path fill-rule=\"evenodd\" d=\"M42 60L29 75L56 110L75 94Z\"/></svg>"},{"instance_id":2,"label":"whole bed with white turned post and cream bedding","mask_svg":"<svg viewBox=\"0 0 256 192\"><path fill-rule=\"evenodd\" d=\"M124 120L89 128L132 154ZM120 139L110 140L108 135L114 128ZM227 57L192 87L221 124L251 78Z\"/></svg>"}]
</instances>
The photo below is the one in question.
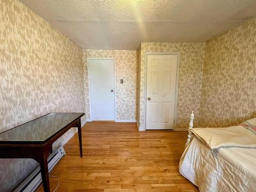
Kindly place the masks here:
<instances>
[{"instance_id":1,"label":"whole bed with white turned post and cream bedding","mask_svg":"<svg viewBox=\"0 0 256 192\"><path fill-rule=\"evenodd\" d=\"M192 112L180 174L200 191L256 191L256 118L193 129L194 118Z\"/></svg>"}]
</instances>

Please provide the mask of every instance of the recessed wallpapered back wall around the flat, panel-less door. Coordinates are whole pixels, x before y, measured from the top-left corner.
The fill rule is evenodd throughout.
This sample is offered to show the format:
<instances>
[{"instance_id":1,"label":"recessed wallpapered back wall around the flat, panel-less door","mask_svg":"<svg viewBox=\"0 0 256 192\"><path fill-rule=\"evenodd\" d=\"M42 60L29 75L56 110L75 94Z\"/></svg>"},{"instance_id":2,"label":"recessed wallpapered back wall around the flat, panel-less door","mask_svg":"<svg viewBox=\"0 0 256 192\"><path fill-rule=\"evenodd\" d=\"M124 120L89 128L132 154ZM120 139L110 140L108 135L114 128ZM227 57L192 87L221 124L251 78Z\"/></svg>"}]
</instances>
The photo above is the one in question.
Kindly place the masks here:
<instances>
[{"instance_id":1,"label":"recessed wallpapered back wall around the flat, panel-less door","mask_svg":"<svg viewBox=\"0 0 256 192\"><path fill-rule=\"evenodd\" d=\"M119 120L136 120L137 112L137 51L131 50L83 50L84 80L88 85L88 57L115 58L115 93L117 104L117 117ZM123 79L123 84L120 84ZM89 90L86 86L87 118L90 118Z\"/></svg>"}]
</instances>

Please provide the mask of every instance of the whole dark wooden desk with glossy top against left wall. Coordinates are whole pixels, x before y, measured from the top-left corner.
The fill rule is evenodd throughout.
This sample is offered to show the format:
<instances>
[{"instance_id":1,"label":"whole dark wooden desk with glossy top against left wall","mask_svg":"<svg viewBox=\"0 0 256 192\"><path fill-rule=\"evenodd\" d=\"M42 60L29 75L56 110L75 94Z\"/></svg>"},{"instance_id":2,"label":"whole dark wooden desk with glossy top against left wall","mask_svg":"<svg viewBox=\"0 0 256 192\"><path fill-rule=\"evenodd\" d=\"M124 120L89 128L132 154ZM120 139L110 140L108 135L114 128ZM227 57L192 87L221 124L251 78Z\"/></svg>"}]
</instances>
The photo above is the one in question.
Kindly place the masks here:
<instances>
[{"instance_id":1,"label":"whole dark wooden desk with glossy top against left wall","mask_svg":"<svg viewBox=\"0 0 256 192\"><path fill-rule=\"evenodd\" d=\"M82 157L81 117L84 113L50 113L0 133L0 158L30 158L40 164L44 190L50 192L47 158L52 144L78 127Z\"/></svg>"}]
</instances>

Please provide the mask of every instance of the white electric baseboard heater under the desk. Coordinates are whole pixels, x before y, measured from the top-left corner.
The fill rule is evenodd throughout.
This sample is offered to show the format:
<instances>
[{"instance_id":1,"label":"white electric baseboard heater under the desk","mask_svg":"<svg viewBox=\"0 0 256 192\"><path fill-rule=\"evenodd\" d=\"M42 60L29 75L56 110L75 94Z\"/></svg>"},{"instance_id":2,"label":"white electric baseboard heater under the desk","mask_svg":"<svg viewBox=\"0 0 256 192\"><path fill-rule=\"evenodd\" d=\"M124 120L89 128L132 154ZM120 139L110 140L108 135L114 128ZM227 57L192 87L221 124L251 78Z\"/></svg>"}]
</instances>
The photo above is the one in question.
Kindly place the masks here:
<instances>
[{"instance_id":1,"label":"white electric baseboard heater under the desk","mask_svg":"<svg viewBox=\"0 0 256 192\"><path fill-rule=\"evenodd\" d=\"M53 153L48 157L48 171L53 169L53 167L57 164L57 162L61 159L61 157L65 156L66 153L62 146L58 147ZM15 188L14 192L33 192L39 184L42 182L40 166L32 172L22 183L20 183L17 188Z\"/></svg>"}]
</instances>

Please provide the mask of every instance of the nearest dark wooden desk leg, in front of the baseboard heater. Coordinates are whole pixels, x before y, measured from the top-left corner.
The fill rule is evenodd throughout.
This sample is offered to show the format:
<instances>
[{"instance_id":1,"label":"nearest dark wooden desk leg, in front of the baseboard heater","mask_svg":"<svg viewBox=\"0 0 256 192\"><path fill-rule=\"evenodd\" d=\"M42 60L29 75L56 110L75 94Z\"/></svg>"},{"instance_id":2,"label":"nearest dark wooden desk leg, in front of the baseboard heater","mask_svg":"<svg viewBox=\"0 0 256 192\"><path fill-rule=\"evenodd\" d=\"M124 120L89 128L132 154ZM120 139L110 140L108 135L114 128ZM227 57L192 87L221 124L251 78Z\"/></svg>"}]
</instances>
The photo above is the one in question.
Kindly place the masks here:
<instances>
[{"instance_id":1,"label":"nearest dark wooden desk leg, in front of the baseboard heater","mask_svg":"<svg viewBox=\"0 0 256 192\"><path fill-rule=\"evenodd\" d=\"M47 156L45 154L40 160L40 168L41 168L41 176L42 176L42 185L44 185L44 191L50 192L48 162L47 162Z\"/></svg>"}]
</instances>

